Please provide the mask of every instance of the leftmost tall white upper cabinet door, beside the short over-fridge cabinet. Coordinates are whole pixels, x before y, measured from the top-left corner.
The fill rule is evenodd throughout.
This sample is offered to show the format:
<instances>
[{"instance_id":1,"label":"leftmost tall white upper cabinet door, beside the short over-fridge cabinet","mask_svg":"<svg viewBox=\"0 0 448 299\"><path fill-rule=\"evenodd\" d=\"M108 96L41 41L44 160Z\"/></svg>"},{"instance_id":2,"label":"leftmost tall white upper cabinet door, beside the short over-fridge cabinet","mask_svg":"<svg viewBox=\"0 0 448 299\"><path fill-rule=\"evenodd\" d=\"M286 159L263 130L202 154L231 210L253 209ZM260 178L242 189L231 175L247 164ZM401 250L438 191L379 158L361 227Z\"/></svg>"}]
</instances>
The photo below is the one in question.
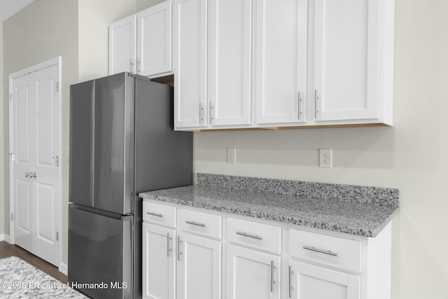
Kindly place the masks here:
<instances>
[{"instance_id":1,"label":"leftmost tall white upper cabinet door, beside the short over-fridge cabinet","mask_svg":"<svg viewBox=\"0 0 448 299\"><path fill-rule=\"evenodd\" d=\"M174 0L174 127L207 127L207 0Z\"/></svg>"}]
</instances>

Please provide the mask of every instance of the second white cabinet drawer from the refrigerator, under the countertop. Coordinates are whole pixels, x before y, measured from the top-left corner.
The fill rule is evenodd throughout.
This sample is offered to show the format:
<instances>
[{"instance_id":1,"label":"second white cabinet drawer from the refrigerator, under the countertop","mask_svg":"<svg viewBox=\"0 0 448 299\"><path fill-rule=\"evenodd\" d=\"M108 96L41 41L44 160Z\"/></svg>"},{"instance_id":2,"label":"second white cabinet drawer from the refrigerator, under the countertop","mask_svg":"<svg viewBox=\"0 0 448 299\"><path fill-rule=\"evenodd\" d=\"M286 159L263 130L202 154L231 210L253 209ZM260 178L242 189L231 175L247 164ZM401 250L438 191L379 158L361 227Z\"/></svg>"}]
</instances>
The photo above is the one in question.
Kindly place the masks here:
<instances>
[{"instance_id":1,"label":"second white cabinet drawer from the refrigerator, under the countertop","mask_svg":"<svg viewBox=\"0 0 448 299\"><path fill-rule=\"evenodd\" d=\"M221 223L219 215L179 209L179 228L181 230L221 239Z\"/></svg>"}]
</instances>

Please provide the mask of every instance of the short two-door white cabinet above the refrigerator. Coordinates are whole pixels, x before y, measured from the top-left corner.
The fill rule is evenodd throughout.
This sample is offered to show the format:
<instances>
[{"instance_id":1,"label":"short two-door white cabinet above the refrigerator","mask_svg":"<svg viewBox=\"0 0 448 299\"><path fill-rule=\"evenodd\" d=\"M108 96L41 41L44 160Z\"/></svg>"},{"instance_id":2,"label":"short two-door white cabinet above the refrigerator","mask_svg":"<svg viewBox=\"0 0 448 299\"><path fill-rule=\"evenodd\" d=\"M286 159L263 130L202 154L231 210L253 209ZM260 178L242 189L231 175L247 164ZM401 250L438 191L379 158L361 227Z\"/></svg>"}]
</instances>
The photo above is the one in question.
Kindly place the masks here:
<instances>
[{"instance_id":1,"label":"short two-door white cabinet above the refrigerator","mask_svg":"<svg viewBox=\"0 0 448 299\"><path fill-rule=\"evenodd\" d=\"M109 74L172 74L172 1L109 25Z\"/></svg>"}]
</instances>

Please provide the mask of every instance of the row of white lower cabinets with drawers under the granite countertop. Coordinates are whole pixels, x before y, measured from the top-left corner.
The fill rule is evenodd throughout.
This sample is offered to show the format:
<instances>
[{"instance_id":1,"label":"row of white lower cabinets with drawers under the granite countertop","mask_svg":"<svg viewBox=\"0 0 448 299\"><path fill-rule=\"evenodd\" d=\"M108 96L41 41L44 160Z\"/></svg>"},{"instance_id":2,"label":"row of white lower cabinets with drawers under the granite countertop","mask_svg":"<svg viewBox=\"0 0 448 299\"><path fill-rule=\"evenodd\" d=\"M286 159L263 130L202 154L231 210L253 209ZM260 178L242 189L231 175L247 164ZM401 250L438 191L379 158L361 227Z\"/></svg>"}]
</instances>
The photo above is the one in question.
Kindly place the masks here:
<instances>
[{"instance_id":1,"label":"row of white lower cabinets with drawers under the granite countertop","mask_svg":"<svg viewBox=\"0 0 448 299\"><path fill-rule=\"evenodd\" d=\"M367 238L155 201L143 209L143 298L391 298L390 224Z\"/></svg>"}]
</instances>

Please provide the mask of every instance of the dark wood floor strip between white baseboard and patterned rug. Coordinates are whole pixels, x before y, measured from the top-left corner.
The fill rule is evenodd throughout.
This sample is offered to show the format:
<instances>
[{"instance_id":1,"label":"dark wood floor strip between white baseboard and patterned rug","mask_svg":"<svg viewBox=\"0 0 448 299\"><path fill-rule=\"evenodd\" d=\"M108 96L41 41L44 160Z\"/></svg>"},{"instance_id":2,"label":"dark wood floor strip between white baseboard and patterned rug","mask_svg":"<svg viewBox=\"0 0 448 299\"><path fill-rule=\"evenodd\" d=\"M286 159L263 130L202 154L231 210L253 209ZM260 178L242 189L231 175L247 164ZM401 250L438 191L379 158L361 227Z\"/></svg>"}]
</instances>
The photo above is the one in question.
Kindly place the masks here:
<instances>
[{"instance_id":1,"label":"dark wood floor strip between white baseboard and patterned rug","mask_svg":"<svg viewBox=\"0 0 448 299\"><path fill-rule=\"evenodd\" d=\"M17 245L11 245L4 241L0 242L0 258L8 258L9 256L17 256L22 258L27 263L34 265L34 267L39 270L49 274L55 279L62 281L64 284L67 282L67 277L57 270L57 267L46 262L45 260L34 256L34 254L29 253L25 249L20 248Z\"/></svg>"}]
</instances>

